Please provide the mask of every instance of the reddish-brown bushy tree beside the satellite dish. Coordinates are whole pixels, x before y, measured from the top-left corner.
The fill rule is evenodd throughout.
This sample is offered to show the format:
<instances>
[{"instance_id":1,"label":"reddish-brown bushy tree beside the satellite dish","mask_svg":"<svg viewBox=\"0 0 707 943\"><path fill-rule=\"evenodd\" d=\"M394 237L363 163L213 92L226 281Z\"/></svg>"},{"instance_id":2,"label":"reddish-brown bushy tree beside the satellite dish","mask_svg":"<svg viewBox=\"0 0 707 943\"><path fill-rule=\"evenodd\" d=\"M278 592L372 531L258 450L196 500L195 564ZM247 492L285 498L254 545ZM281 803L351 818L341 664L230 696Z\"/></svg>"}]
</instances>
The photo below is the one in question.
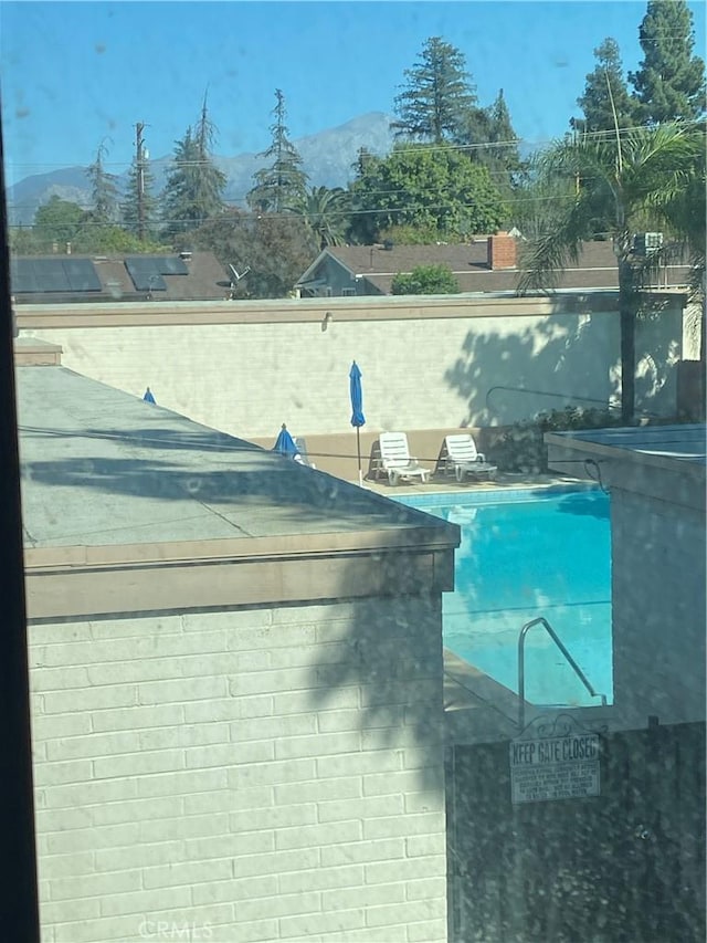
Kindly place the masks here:
<instances>
[{"instance_id":1,"label":"reddish-brown bushy tree beside the satellite dish","mask_svg":"<svg viewBox=\"0 0 707 943\"><path fill-rule=\"evenodd\" d=\"M316 239L295 216L231 210L189 234L189 245L213 252L224 265L250 272L235 297L287 297L318 252Z\"/></svg>"}]
</instances>

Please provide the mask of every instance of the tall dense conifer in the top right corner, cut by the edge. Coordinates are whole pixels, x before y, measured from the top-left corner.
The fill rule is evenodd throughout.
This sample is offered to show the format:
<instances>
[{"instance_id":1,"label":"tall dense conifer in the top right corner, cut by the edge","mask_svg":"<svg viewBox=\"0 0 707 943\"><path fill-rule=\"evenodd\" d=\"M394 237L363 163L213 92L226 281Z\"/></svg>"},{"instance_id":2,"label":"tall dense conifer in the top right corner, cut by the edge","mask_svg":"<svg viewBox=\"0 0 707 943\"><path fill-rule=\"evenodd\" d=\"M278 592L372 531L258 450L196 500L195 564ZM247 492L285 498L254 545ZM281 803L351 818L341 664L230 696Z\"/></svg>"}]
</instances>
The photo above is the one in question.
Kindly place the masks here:
<instances>
[{"instance_id":1,"label":"tall dense conifer in the top right corner, cut by the edge","mask_svg":"<svg viewBox=\"0 0 707 943\"><path fill-rule=\"evenodd\" d=\"M685 0L650 0L639 31L643 61L629 78L644 123L696 121L705 114L705 63L694 55Z\"/></svg>"}]
</instances>

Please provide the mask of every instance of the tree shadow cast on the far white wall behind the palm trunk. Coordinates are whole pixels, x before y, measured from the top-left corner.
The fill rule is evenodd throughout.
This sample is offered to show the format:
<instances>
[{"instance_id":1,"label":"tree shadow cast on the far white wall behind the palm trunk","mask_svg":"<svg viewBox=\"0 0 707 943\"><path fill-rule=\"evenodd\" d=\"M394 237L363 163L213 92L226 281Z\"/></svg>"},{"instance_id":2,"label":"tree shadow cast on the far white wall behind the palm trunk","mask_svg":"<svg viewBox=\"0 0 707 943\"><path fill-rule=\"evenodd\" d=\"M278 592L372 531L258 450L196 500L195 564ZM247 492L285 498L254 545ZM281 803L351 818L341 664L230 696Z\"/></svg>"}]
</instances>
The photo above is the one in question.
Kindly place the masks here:
<instances>
[{"instance_id":1,"label":"tree shadow cast on the far white wall behind the palm trunk","mask_svg":"<svg viewBox=\"0 0 707 943\"><path fill-rule=\"evenodd\" d=\"M461 355L444 375L467 402L461 425L504 426L564 406L620 402L618 315L568 316L566 305L558 300L557 313L514 335L467 333ZM636 404L644 410L656 409L661 394L674 383L679 314L667 315L667 307L666 302L652 305L637 324L637 352L650 352L636 370ZM674 407L668 404L667 411Z\"/></svg>"}]
</instances>

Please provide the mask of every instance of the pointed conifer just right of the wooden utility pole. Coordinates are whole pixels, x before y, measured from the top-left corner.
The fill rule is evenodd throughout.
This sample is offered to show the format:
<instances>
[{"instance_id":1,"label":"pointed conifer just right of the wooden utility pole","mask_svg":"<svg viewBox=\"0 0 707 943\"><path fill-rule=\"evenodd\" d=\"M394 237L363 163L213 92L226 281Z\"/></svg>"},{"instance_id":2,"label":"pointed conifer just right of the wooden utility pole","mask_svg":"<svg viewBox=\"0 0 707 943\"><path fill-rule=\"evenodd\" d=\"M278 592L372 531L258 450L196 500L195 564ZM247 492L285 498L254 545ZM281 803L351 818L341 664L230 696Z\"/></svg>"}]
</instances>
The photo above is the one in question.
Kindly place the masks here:
<instances>
[{"instance_id":1,"label":"pointed conifer just right of the wooden utility pole","mask_svg":"<svg viewBox=\"0 0 707 943\"><path fill-rule=\"evenodd\" d=\"M175 166L162 192L165 234L173 237L201 226L223 211L225 175L215 166L212 147L215 129L204 97L196 128L188 127L176 142Z\"/></svg>"}]
</instances>

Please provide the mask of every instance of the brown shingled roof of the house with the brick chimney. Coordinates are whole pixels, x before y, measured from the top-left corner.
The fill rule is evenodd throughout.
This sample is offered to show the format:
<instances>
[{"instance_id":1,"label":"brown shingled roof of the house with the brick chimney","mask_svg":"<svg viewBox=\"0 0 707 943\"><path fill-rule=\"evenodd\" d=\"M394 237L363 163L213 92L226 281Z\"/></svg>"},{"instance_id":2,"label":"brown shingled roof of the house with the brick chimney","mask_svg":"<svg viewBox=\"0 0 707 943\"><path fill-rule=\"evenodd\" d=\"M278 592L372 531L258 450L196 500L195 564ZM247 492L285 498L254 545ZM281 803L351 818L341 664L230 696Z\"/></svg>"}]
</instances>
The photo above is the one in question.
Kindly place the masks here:
<instances>
[{"instance_id":1,"label":"brown shingled roof of the house with the brick chimney","mask_svg":"<svg viewBox=\"0 0 707 943\"><path fill-rule=\"evenodd\" d=\"M523 252L523 245L518 245ZM488 241L477 239L471 243L433 245L341 245L329 247L302 276L305 285L319 277L320 263L328 254L347 269L352 277L366 279L383 294L390 294L392 280L399 272L411 272L418 265L449 265L456 275L462 292L515 292L521 268L488 268ZM666 266L655 286L685 285L689 266ZM616 289L619 286L616 258L611 242L587 242L577 264L570 263L559 273L555 287L561 289Z\"/></svg>"}]
</instances>

